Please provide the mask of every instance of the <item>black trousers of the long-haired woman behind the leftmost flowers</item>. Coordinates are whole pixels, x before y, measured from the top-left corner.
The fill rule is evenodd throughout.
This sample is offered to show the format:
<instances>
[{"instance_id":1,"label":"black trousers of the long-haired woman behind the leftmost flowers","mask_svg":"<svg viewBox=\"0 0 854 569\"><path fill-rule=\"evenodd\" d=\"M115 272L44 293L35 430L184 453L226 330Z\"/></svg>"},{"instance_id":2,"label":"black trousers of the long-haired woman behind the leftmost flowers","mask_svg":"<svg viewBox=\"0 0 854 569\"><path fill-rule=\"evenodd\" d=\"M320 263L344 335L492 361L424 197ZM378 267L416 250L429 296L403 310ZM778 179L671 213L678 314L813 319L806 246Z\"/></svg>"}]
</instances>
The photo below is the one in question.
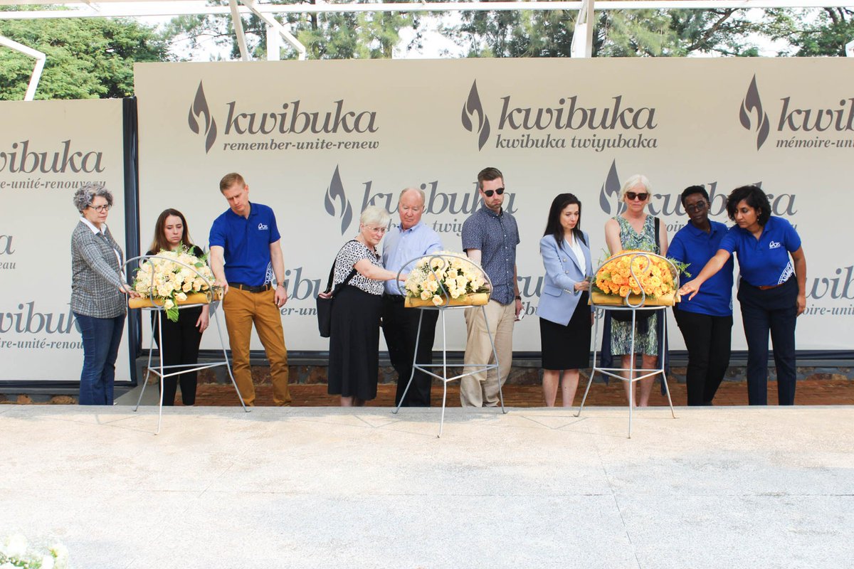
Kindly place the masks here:
<instances>
[{"instance_id":1,"label":"black trousers of the long-haired woman behind the leftmost flowers","mask_svg":"<svg viewBox=\"0 0 854 569\"><path fill-rule=\"evenodd\" d=\"M160 334L157 329L157 314L151 313L151 333L155 334L157 347L163 353L163 365L178 365L181 363L198 363L199 344L202 342L202 333L196 328L196 321L202 309L187 309L179 311L178 322L172 322L162 314L163 322L163 345L160 345ZM164 374L170 374L178 369L164 369ZM178 378L181 382L181 402L184 405L196 404L196 384L198 373L195 371L184 372L161 380L163 390L163 404L174 405L175 393L178 391Z\"/></svg>"}]
</instances>

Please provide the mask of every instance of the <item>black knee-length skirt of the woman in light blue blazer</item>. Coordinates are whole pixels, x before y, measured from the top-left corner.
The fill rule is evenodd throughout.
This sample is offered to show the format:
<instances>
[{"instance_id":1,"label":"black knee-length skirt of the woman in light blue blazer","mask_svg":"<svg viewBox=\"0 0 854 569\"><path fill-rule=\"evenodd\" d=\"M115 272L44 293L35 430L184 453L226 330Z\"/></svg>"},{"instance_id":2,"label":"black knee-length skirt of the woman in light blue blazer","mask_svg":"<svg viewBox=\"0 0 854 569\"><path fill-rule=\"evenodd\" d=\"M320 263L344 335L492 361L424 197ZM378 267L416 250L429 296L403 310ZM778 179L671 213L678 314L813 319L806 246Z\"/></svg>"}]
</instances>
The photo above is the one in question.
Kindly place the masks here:
<instances>
[{"instance_id":1,"label":"black knee-length skirt of the woman in light blue blazer","mask_svg":"<svg viewBox=\"0 0 854 569\"><path fill-rule=\"evenodd\" d=\"M563 326L540 318L543 369L585 369L590 366L588 293L578 299L570 322Z\"/></svg>"}]
</instances>

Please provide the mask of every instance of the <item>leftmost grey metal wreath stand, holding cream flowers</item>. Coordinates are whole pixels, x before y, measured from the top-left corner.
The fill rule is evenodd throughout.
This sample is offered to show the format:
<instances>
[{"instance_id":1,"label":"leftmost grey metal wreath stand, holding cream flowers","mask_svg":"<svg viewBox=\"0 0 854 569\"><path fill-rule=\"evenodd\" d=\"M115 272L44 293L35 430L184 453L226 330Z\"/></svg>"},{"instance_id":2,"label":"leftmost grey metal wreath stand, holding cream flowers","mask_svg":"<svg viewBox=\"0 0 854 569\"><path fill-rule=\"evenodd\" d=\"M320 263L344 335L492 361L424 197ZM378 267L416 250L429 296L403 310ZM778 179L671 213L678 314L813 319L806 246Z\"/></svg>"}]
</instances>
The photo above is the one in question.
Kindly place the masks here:
<instances>
[{"instance_id":1,"label":"leftmost grey metal wreath stand, holding cream flowers","mask_svg":"<svg viewBox=\"0 0 854 569\"><path fill-rule=\"evenodd\" d=\"M148 371L145 373L145 380L143 381L143 389L139 392L139 398L137 399L137 404L133 408L134 412L136 412L136 410L139 409L139 404L142 403L142 401L143 401L143 394L145 393L145 387L148 386L148 384L149 384L149 377L151 376L151 374L155 374L155 375L159 376L161 378L160 404L159 404L159 412L157 415L157 431L156 431L155 435L160 434L161 422L163 421L163 380L165 380L167 377L172 377L173 375L186 374L188 372L199 371L201 369L217 368L219 366L224 365L225 369L228 369L228 376L231 378L231 385L234 386L234 391L237 392L237 398L240 400L240 404L243 407L243 410L245 412L249 413L249 408L246 406L245 403L243 403L243 397L240 395L240 390L237 389L237 381L234 380L234 374L231 373L231 363L229 363L229 361L228 361L228 352L225 351L225 341L222 338L222 327L219 326L219 312L216 310L218 305L219 305L219 300L213 299L213 283L208 281L208 279L204 275L202 275L202 273L200 273L198 270L196 270L196 267L194 267L190 264L182 263L181 261L177 261L173 258L161 257L159 255L140 255L138 257L129 258L126 260L124 268L126 268L126 266L128 264L132 263L133 261L139 261L140 264L142 264L150 258L160 258L160 259L169 261L170 263L178 264L178 265L181 265L182 267L190 269L194 273L196 273L196 276L198 278L201 278L202 281L204 281L205 284L208 285L208 290L203 291L203 293L208 297L208 302L196 303L196 304L191 304L191 305L176 305L176 307L178 308L178 310L184 310L186 308L196 308L196 306L210 306L210 317L211 317L211 320L216 322L216 331L217 331L217 334L219 335L219 345L222 347L223 359L221 362L213 362L213 363L208 363L208 364L204 364L204 365L199 365L198 363L177 363L174 365L163 365L163 313L166 311L166 308L162 304L158 305L155 302L155 299L154 299L154 297L155 297L154 271L152 271L152 273L151 273L151 284L149 286L149 300L151 300L152 306L143 306L139 310L141 310L141 311L156 311L156 313L157 313L157 333L159 336L158 339L160 340L160 343L159 343L160 349L157 352L160 356L160 366L157 366L155 368L151 367L151 356L152 356L152 352L154 351L154 347L155 347L155 334L154 334L154 329L152 329L152 331L151 331L151 343L149 345L149 362L148 362L148 365L146 368ZM130 302L130 298L128 298L128 302ZM152 324L152 328L154 328L154 324ZM165 373L165 370L167 370L167 369L175 370L175 371L169 371L168 373Z\"/></svg>"}]
</instances>

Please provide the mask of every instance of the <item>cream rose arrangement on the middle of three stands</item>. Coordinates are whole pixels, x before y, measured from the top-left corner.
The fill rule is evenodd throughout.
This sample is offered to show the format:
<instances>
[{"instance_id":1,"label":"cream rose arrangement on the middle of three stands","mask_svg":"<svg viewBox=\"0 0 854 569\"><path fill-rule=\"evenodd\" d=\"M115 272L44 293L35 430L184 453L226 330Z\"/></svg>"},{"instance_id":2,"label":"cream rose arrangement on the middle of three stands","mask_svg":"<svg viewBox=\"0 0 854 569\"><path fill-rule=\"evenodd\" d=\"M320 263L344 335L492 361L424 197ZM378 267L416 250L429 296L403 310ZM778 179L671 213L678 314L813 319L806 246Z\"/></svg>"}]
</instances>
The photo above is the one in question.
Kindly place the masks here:
<instances>
[{"instance_id":1,"label":"cream rose arrangement on the middle of three stands","mask_svg":"<svg viewBox=\"0 0 854 569\"><path fill-rule=\"evenodd\" d=\"M447 304L442 289L452 299L489 292L483 270L474 261L452 251L440 251L418 259L404 287L410 299L430 300L436 306Z\"/></svg>"}]
</instances>

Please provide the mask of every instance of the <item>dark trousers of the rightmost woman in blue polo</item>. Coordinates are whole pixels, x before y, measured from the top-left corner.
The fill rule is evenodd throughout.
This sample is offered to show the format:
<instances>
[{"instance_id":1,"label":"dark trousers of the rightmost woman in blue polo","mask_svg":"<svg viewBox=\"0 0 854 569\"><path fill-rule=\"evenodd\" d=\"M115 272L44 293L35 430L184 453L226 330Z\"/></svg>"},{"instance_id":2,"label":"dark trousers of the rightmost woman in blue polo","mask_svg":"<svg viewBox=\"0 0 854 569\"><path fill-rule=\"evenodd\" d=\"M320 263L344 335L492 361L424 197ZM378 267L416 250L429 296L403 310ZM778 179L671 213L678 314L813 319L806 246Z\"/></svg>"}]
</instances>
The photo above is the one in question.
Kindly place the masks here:
<instances>
[{"instance_id":1,"label":"dark trousers of the rightmost woman in blue polo","mask_svg":"<svg viewBox=\"0 0 854 569\"><path fill-rule=\"evenodd\" d=\"M798 280L762 290L739 282L741 319L747 340L747 401L768 404L768 334L774 344L777 402L795 404L795 323L798 321Z\"/></svg>"}]
</instances>

